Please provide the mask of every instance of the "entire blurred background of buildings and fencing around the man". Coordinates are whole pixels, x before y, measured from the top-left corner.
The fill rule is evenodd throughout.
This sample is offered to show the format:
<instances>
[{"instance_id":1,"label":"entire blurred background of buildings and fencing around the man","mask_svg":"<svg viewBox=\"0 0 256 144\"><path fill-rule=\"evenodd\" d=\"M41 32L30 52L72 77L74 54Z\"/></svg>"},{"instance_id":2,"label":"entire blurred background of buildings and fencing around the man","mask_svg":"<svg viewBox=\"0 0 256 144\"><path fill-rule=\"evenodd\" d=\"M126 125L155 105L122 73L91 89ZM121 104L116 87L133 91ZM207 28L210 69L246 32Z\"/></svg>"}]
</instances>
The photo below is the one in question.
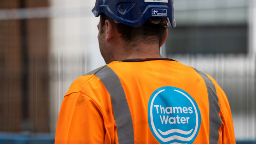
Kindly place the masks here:
<instances>
[{"instance_id":1,"label":"entire blurred background of buildings and fencing around the man","mask_svg":"<svg viewBox=\"0 0 256 144\"><path fill-rule=\"evenodd\" d=\"M0 0L0 144L53 144L63 96L105 64L95 0ZM161 55L211 75L237 143L256 143L256 0L174 0Z\"/></svg>"}]
</instances>

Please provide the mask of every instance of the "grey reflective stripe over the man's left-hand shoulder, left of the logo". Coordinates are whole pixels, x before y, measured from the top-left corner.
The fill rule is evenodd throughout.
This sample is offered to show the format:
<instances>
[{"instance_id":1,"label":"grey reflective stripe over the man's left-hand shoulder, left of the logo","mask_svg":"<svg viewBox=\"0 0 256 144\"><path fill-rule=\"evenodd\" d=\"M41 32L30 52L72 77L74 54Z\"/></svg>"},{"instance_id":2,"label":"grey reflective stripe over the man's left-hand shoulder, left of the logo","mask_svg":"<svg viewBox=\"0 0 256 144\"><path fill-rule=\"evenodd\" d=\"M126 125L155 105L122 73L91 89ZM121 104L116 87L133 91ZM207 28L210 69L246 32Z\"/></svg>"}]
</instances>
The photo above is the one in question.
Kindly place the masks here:
<instances>
[{"instance_id":1,"label":"grey reflective stripe over the man's left-hand shoulder, left of the logo","mask_svg":"<svg viewBox=\"0 0 256 144\"><path fill-rule=\"evenodd\" d=\"M111 97L119 144L134 144L132 115L119 77L108 66L95 71L94 75L101 80Z\"/></svg>"}]
</instances>

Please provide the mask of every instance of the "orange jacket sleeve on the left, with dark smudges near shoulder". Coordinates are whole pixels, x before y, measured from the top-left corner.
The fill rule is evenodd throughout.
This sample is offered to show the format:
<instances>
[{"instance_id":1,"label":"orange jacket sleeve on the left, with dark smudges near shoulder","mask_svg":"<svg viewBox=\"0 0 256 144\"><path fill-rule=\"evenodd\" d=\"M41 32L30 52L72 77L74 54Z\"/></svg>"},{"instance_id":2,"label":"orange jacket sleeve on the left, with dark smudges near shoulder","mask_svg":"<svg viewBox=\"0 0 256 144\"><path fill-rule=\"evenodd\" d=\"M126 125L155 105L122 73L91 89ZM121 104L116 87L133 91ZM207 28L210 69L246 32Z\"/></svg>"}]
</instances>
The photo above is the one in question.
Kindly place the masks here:
<instances>
[{"instance_id":1,"label":"orange jacket sleeve on the left, with dark smudges near shoulder","mask_svg":"<svg viewBox=\"0 0 256 144\"><path fill-rule=\"evenodd\" d=\"M97 104L81 92L66 95L61 104L55 144L104 143L106 130Z\"/></svg>"}]
</instances>

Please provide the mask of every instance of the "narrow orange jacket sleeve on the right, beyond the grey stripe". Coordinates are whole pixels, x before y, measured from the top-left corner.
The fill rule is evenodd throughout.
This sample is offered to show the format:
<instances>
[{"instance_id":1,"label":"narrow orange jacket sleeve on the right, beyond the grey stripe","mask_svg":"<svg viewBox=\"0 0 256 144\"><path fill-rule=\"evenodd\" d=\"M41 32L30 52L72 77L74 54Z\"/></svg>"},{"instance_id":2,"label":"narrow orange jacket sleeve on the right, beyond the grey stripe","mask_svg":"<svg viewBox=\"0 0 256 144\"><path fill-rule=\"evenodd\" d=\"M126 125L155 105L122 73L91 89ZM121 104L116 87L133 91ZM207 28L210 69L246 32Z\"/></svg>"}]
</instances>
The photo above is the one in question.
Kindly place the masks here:
<instances>
[{"instance_id":1,"label":"narrow orange jacket sleeve on the right, beyond the grey stripe","mask_svg":"<svg viewBox=\"0 0 256 144\"><path fill-rule=\"evenodd\" d=\"M207 74L206 74L207 75ZM213 82L216 87L217 96L219 98L219 105L220 105L220 118L222 124L219 129L219 140L218 143L220 144L235 144L235 132L234 132L234 125L232 114L230 110L230 106L228 103L228 98L224 91L220 88L219 84L209 75L207 75Z\"/></svg>"}]
</instances>

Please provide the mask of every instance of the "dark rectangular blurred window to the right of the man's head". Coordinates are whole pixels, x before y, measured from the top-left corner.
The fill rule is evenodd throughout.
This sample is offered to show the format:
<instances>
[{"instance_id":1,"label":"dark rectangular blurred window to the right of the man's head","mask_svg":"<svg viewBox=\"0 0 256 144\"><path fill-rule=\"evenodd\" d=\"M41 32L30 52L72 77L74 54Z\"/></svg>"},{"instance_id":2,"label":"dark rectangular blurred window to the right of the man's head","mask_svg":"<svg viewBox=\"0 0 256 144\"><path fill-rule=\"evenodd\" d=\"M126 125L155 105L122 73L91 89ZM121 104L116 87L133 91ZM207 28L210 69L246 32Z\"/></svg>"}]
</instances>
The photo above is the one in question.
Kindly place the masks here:
<instances>
[{"instance_id":1,"label":"dark rectangular blurred window to the right of the man's head","mask_svg":"<svg viewBox=\"0 0 256 144\"><path fill-rule=\"evenodd\" d=\"M247 53L247 25L180 26L169 29L167 54Z\"/></svg>"}]
</instances>

